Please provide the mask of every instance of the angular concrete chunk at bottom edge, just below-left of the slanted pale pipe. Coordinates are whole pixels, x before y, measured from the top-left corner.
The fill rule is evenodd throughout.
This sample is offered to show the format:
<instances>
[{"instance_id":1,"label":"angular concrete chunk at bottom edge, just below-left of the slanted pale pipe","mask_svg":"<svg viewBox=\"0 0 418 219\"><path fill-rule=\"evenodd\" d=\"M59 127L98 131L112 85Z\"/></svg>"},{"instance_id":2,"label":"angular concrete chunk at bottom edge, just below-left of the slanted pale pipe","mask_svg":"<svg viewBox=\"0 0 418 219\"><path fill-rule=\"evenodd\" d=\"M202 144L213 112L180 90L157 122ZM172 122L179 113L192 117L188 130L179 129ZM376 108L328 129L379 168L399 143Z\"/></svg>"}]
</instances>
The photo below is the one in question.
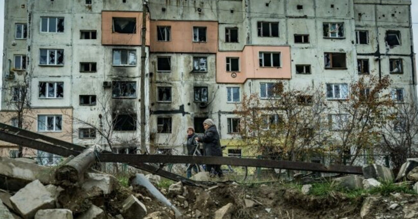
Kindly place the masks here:
<instances>
[{"instance_id":1,"label":"angular concrete chunk at bottom edge, just below-left of the slanted pale pipe","mask_svg":"<svg viewBox=\"0 0 418 219\"><path fill-rule=\"evenodd\" d=\"M125 219L141 219L147 215L147 208L135 196L130 195L122 204L121 214Z\"/></svg>"}]
</instances>

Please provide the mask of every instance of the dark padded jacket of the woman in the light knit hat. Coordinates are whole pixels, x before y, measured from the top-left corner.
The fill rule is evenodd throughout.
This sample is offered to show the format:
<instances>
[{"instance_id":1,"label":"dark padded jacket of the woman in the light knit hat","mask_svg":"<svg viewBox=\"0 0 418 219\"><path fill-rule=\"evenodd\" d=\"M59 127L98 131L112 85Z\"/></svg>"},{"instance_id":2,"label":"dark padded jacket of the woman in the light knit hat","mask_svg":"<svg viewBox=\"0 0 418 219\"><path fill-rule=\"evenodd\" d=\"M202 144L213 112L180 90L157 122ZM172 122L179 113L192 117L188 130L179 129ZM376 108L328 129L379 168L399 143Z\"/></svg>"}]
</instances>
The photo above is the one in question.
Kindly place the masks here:
<instances>
[{"instance_id":1,"label":"dark padded jacket of the woman in the light knit hat","mask_svg":"<svg viewBox=\"0 0 418 219\"><path fill-rule=\"evenodd\" d=\"M199 134L198 136L200 142L203 142L205 156L222 156L221 142L215 125L209 127L204 131L204 134Z\"/></svg>"}]
</instances>

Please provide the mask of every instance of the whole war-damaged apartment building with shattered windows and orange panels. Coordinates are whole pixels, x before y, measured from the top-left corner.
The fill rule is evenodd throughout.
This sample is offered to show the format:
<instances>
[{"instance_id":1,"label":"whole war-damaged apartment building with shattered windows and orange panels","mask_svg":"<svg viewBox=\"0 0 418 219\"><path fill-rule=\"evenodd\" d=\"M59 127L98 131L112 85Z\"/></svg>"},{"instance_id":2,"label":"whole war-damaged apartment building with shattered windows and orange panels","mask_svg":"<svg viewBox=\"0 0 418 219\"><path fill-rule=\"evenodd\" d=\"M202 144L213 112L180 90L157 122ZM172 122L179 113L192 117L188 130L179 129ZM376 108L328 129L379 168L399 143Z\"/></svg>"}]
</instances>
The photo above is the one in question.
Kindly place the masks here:
<instances>
[{"instance_id":1,"label":"whole war-damaged apartment building with shattered windows and orange panels","mask_svg":"<svg viewBox=\"0 0 418 219\"><path fill-rule=\"evenodd\" d=\"M149 0L141 54L140 0L6 1L2 122L16 125L9 103L29 75L32 131L119 153L137 153L145 133L151 151L180 154L187 127L203 132L211 118L228 153L240 155L236 104L252 93L268 101L278 79L322 86L331 101L353 78L390 75L393 98L415 101L410 5Z\"/></svg>"}]
</instances>

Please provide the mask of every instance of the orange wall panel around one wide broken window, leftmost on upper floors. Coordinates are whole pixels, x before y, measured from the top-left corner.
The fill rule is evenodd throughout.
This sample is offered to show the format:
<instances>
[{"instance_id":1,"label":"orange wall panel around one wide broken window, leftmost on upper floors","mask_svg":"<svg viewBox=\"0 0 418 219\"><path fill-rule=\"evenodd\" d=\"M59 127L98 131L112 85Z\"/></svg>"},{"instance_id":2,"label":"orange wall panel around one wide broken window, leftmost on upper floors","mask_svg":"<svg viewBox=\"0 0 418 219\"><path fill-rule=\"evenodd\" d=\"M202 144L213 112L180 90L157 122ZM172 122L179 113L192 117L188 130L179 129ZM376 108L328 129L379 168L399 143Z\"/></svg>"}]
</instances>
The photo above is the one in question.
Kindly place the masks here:
<instances>
[{"instance_id":1,"label":"orange wall panel around one wide broken window, leftmost on upper floors","mask_svg":"<svg viewBox=\"0 0 418 219\"><path fill-rule=\"evenodd\" d=\"M136 33L121 34L113 31L113 18L135 18ZM149 20L146 21L149 26ZM101 12L101 44L102 45L141 45L142 12ZM146 32L146 45L149 45L149 31Z\"/></svg>"}]
</instances>

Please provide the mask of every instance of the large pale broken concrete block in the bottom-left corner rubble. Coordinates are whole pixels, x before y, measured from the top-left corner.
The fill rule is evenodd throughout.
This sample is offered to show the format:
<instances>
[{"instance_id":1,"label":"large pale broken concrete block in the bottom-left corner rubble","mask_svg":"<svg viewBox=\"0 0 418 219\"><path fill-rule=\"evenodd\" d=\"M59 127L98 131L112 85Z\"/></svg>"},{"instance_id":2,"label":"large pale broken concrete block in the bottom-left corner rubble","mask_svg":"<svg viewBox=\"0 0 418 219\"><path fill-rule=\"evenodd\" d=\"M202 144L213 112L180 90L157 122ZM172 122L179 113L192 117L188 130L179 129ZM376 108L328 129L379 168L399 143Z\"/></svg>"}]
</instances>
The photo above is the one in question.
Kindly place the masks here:
<instances>
[{"instance_id":1,"label":"large pale broken concrete block in the bottom-left corner rubble","mask_svg":"<svg viewBox=\"0 0 418 219\"><path fill-rule=\"evenodd\" d=\"M20 189L10 198L13 209L23 218L35 216L38 210L55 208L55 199L39 180L35 180Z\"/></svg>"}]
</instances>

